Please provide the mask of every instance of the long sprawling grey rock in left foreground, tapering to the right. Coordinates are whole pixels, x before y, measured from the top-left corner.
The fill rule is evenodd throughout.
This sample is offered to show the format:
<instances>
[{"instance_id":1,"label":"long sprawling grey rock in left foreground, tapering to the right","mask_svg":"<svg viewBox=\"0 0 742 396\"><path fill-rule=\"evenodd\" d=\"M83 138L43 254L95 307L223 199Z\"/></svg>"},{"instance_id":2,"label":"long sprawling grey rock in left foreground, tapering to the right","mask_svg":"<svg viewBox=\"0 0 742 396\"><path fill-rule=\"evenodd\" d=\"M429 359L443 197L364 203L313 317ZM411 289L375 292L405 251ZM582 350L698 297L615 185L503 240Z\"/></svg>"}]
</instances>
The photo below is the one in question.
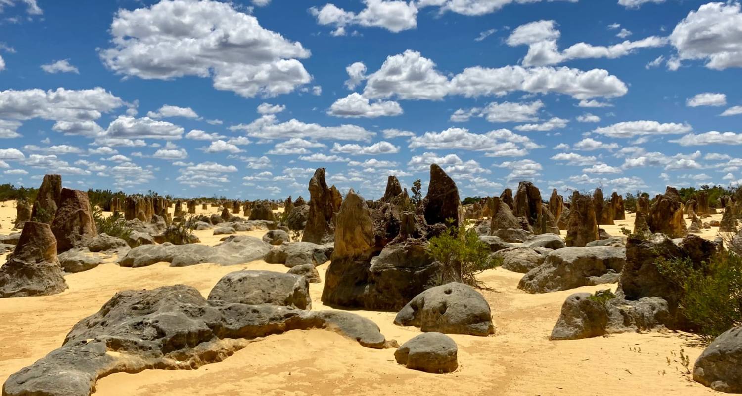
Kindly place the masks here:
<instances>
[{"instance_id":1,"label":"long sprawling grey rock in left foreground, tapering to the right","mask_svg":"<svg viewBox=\"0 0 742 396\"><path fill-rule=\"evenodd\" d=\"M12 374L3 393L88 396L108 374L197 369L232 356L249 340L309 329L334 331L368 348L396 346L375 323L348 312L207 301L185 285L125 290L78 322L61 347Z\"/></svg>"}]
</instances>

